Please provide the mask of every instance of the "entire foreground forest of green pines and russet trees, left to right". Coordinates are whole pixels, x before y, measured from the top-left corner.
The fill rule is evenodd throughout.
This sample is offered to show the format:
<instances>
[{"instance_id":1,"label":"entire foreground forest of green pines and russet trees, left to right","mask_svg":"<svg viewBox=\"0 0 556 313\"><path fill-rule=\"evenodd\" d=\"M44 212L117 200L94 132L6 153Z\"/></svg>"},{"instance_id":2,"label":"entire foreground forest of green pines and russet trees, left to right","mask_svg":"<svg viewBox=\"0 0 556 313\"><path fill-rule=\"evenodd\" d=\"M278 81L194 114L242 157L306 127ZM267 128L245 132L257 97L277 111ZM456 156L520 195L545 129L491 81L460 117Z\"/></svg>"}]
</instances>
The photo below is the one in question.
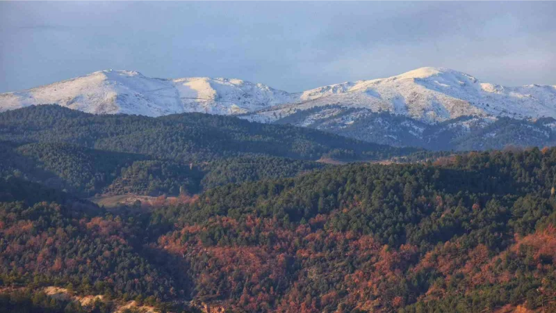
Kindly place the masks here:
<instances>
[{"instance_id":1,"label":"entire foreground forest of green pines and russet trees, left to right","mask_svg":"<svg viewBox=\"0 0 556 313\"><path fill-rule=\"evenodd\" d=\"M0 285L28 296L0 307L94 309L39 292L54 285L177 312L555 312L555 184L547 148L336 166L136 215L13 188Z\"/></svg>"}]
</instances>

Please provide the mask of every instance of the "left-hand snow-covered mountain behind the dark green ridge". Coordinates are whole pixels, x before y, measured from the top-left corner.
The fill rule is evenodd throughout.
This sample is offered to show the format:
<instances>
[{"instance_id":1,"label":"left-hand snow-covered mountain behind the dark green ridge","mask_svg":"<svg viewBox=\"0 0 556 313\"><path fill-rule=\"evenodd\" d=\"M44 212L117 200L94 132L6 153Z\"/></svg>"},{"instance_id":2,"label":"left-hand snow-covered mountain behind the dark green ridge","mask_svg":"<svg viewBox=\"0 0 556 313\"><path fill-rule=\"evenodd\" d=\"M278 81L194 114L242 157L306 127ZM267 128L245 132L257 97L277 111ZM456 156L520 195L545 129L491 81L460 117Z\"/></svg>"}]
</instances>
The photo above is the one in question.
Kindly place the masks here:
<instances>
[{"instance_id":1,"label":"left-hand snow-covered mountain behind the dark green ridge","mask_svg":"<svg viewBox=\"0 0 556 313\"><path fill-rule=\"evenodd\" d=\"M295 97L285 91L240 79L156 79L139 72L105 70L0 94L0 111L33 104L59 104L95 114L237 114L292 101Z\"/></svg>"}]
</instances>

